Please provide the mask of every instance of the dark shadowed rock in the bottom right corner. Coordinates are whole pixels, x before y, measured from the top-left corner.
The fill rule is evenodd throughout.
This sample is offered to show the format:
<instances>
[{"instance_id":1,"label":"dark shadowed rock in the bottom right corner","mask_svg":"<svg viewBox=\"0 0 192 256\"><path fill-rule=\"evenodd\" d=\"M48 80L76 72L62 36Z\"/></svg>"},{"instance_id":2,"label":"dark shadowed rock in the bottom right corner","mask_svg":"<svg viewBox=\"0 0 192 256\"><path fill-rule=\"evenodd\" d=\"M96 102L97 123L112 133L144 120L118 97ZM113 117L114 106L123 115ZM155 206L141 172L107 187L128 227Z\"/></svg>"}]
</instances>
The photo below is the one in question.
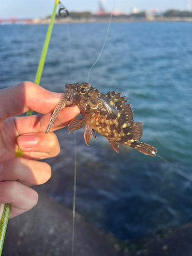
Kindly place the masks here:
<instances>
[{"instance_id":1,"label":"dark shadowed rock in the bottom right corner","mask_svg":"<svg viewBox=\"0 0 192 256\"><path fill-rule=\"evenodd\" d=\"M121 243L124 256L191 256L192 223Z\"/></svg>"}]
</instances>

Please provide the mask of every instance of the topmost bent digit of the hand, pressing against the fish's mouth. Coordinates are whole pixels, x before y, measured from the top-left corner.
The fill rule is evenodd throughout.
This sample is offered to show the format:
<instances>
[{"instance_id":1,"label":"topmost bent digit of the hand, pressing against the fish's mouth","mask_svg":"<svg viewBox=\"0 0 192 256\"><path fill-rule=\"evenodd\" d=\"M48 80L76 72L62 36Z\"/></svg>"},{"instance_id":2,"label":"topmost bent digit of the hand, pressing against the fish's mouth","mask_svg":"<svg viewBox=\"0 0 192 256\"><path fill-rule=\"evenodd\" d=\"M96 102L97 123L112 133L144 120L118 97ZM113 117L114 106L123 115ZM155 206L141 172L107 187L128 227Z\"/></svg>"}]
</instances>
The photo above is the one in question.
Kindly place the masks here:
<instances>
[{"instance_id":1,"label":"topmost bent digit of the hand, pressing against the fish's mouth","mask_svg":"<svg viewBox=\"0 0 192 256\"><path fill-rule=\"evenodd\" d=\"M28 110L41 114L51 112L62 94L52 93L33 82L22 82L0 90L0 123Z\"/></svg>"}]
</instances>

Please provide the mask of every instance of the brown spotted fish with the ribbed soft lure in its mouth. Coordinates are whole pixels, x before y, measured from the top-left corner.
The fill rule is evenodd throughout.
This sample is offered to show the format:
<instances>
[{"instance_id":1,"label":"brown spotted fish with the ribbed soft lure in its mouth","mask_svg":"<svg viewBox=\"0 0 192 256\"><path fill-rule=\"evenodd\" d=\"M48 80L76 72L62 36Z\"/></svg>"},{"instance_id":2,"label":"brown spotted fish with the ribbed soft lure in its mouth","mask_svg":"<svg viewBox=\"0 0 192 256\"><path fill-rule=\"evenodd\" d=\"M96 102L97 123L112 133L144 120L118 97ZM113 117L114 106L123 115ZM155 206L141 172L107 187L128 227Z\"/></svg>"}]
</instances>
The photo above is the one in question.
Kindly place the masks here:
<instances>
[{"instance_id":1,"label":"brown spotted fish with the ribbed soft lure in its mouth","mask_svg":"<svg viewBox=\"0 0 192 256\"><path fill-rule=\"evenodd\" d=\"M46 134L61 109L77 105L82 118L75 118L70 122L69 133L85 125L84 140L88 145L93 134L96 138L97 132L108 139L116 152L120 143L134 147L145 155L156 156L155 147L138 141L143 134L143 123L134 122L131 104L125 104L128 101L125 100L126 97L120 97L121 93L115 94L116 91L105 95L87 82L66 83L66 93L53 112Z\"/></svg>"}]
</instances>

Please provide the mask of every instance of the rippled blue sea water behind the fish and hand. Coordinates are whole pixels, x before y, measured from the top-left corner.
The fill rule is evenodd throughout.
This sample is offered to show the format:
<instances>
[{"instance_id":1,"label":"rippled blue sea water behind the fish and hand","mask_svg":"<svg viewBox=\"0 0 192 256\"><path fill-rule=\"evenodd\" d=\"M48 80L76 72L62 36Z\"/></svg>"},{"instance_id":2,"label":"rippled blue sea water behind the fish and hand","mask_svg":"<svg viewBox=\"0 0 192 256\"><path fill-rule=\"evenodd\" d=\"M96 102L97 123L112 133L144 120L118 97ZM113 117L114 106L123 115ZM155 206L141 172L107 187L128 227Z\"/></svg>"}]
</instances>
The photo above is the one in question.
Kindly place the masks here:
<instances>
[{"instance_id":1,"label":"rippled blue sea water behind the fish and hand","mask_svg":"<svg viewBox=\"0 0 192 256\"><path fill-rule=\"evenodd\" d=\"M34 81L47 25L0 26L0 89ZM65 92L65 83L87 82L108 24L54 25L40 86ZM141 141L158 157L102 136L88 147L76 131L76 210L120 239L192 221L192 23L112 23L89 82L102 93L118 89L130 99ZM73 132L74 133L74 132ZM61 153L47 160L50 196L72 208L74 135L57 131Z\"/></svg>"}]
</instances>

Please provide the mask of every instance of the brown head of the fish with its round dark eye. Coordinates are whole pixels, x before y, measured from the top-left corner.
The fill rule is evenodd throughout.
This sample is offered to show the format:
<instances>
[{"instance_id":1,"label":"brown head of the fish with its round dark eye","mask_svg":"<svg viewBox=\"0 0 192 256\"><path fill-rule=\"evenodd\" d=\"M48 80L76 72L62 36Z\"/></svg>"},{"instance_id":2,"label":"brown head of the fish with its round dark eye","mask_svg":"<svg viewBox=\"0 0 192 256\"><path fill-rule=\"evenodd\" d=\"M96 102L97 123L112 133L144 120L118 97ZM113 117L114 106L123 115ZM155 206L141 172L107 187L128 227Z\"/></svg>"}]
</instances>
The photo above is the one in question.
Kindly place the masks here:
<instances>
[{"instance_id":1,"label":"brown head of the fish with its round dark eye","mask_svg":"<svg viewBox=\"0 0 192 256\"><path fill-rule=\"evenodd\" d=\"M88 82L66 83L66 99L87 113L101 108L100 94L100 91Z\"/></svg>"}]
</instances>

